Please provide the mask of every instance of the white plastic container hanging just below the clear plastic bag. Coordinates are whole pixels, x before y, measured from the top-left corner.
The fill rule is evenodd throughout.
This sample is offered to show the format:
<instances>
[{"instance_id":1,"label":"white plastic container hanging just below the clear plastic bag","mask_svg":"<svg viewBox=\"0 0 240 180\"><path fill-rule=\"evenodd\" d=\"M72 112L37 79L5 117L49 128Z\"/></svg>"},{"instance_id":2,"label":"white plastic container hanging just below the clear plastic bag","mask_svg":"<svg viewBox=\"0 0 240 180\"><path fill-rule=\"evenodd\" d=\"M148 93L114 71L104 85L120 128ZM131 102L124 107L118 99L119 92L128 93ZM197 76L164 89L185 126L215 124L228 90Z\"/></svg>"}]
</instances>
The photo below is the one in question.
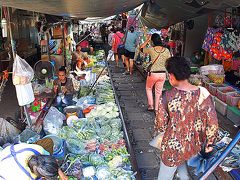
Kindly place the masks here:
<instances>
[{"instance_id":1,"label":"white plastic container hanging just below the clear plastic bag","mask_svg":"<svg viewBox=\"0 0 240 180\"><path fill-rule=\"evenodd\" d=\"M15 85L19 106L30 104L34 101L32 83L25 85Z\"/></svg>"}]
</instances>

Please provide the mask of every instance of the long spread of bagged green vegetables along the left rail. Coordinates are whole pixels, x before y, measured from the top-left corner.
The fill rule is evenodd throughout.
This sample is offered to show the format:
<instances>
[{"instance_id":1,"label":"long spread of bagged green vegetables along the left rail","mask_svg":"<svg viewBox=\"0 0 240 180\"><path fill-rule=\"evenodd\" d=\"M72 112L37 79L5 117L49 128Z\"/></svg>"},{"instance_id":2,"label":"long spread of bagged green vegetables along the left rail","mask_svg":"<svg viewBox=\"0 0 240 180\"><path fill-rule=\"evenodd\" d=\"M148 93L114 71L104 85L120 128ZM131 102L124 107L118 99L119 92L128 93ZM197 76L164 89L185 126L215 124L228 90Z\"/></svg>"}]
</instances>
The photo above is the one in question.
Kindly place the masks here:
<instances>
[{"instance_id":1,"label":"long spread of bagged green vegetables along the left rail","mask_svg":"<svg viewBox=\"0 0 240 180\"><path fill-rule=\"evenodd\" d=\"M35 100L29 110L40 113L37 127L42 125L42 131L25 129L18 139L34 143L51 138L53 156L69 179L135 179L135 160L130 156L131 145L104 51L89 57L83 71L89 73L88 79L70 75L76 90L80 87L74 98L76 105L60 112L49 102Z\"/></svg>"}]
</instances>

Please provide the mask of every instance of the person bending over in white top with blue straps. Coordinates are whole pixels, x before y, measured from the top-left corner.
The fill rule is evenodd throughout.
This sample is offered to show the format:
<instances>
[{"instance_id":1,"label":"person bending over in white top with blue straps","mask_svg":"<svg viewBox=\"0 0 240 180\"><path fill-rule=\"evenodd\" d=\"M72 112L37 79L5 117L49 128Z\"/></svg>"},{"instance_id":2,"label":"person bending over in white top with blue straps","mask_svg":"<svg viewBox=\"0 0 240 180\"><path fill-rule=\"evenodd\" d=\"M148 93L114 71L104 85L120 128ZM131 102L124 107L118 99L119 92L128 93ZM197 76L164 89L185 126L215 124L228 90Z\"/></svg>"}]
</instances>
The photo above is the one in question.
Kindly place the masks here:
<instances>
[{"instance_id":1,"label":"person bending over in white top with blue straps","mask_svg":"<svg viewBox=\"0 0 240 180\"><path fill-rule=\"evenodd\" d=\"M21 143L7 146L0 152L1 180L57 180L58 176L61 180L68 179L57 160L40 145Z\"/></svg>"}]
</instances>

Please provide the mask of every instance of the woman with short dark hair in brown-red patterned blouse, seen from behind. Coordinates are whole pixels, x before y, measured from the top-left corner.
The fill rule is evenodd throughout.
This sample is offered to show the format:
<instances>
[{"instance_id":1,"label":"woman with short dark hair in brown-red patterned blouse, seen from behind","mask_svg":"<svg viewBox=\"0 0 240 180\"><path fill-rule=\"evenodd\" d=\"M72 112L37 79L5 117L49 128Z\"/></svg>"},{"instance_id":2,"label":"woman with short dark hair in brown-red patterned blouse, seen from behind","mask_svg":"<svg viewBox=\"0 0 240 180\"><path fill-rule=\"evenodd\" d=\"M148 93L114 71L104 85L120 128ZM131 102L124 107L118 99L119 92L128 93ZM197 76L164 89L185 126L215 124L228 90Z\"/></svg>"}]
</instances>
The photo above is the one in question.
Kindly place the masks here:
<instances>
[{"instance_id":1,"label":"woman with short dark hair in brown-red patterned blouse, seen from behind","mask_svg":"<svg viewBox=\"0 0 240 180\"><path fill-rule=\"evenodd\" d=\"M209 92L188 82L190 66L183 57L166 62L173 89L163 94L155 119L155 131L164 133L158 179L172 179L176 170L180 179L189 179L186 161L207 143L212 150L218 131L215 107Z\"/></svg>"}]
</instances>

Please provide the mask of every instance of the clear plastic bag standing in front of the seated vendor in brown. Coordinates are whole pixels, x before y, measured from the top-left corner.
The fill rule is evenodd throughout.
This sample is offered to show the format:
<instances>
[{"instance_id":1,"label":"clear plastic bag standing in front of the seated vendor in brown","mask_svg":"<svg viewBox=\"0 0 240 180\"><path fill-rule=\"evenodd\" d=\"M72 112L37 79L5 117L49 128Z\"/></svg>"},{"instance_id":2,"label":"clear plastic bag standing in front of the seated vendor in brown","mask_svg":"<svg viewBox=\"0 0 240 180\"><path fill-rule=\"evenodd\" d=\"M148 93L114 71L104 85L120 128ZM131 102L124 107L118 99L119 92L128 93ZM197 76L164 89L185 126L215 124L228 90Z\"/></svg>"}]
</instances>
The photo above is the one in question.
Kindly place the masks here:
<instances>
[{"instance_id":1,"label":"clear plastic bag standing in front of the seated vendor in brown","mask_svg":"<svg viewBox=\"0 0 240 180\"><path fill-rule=\"evenodd\" d=\"M57 108L51 107L43 121L43 130L46 134L57 135L62 128L63 120L65 120L64 114Z\"/></svg>"}]
</instances>

